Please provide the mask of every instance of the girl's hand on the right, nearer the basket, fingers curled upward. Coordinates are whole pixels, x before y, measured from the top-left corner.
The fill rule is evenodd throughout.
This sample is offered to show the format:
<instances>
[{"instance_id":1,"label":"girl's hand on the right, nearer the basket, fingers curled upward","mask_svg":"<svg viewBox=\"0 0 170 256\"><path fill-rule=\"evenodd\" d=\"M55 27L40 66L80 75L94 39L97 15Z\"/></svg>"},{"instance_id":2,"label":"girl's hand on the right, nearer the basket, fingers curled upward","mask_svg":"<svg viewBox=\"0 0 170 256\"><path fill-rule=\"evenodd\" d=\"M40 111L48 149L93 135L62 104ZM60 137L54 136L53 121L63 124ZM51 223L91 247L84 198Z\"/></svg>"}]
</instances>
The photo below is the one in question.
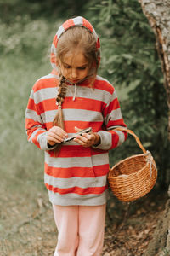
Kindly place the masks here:
<instances>
[{"instance_id":1,"label":"girl's hand on the right, nearer the basket, fingers curled upward","mask_svg":"<svg viewBox=\"0 0 170 256\"><path fill-rule=\"evenodd\" d=\"M82 131L82 129L75 127L75 131ZM74 141L83 147L88 148L93 145L98 145L100 143L100 137L98 133L92 131L90 133L82 133L82 135L77 135Z\"/></svg>"}]
</instances>

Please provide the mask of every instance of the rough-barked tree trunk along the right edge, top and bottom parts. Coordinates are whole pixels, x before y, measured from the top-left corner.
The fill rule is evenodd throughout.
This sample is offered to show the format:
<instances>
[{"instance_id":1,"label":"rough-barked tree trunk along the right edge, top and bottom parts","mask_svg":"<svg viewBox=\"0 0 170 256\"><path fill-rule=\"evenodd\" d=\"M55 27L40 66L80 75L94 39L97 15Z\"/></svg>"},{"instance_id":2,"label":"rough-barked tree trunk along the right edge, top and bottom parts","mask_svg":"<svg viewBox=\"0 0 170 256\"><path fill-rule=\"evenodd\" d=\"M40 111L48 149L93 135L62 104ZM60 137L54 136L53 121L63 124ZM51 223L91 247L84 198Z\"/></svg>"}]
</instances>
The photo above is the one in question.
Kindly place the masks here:
<instances>
[{"instance_id":1,"label":"rough-barked tree trunk along the right edge, top and bottom parts","mask_svg":"<svg viewBox=\"0 0 170 256\"><path fill-rule=\"evenodd\" d=\"M139 3L156 35L156 49L161 59L164 86L167 92L168 139L170 141L170 1L139 0ZM170 197L170 186L168 192ZM170 199L167 200L166 210L144 253L144 256L156 255L170 255Z\"/></svg>"}]
</instances>

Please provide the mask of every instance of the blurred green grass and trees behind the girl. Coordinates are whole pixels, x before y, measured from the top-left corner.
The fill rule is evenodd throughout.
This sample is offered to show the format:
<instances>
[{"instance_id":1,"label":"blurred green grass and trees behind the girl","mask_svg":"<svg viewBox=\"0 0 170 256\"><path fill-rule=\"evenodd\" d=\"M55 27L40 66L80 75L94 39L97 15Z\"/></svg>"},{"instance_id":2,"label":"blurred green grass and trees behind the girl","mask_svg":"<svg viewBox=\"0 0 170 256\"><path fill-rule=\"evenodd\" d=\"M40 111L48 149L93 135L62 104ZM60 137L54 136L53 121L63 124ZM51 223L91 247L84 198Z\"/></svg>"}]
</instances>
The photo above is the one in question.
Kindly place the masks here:
<instances>
[{"instance_id":1,"label":"blurred green grass and trees behind the girl","mask_svg":"<svg viewBox=\"0 0 170 256\"><path fill-rule=\"evenodd\" d=\"M63 21L77 15L88 19L99 34L102 49L99 75L114 84L128 128L137 134L144 148L150 150L156 160L156 193L165 191L170 181L167 96L161 62L156 52L155 35L138 1L0 0L2 255L22 255L15 254L14 250L26 246L36 226L30 225L32 230L27 230L27 233L32 233L24 239L24 231L20 228L24 226L26 229L26 216L30 221L35 214L37 219L39 215L34 212L37 204L39 208L42 202L48 206L43 185L43 152L27 143L25 111L32 85L51 72L48 53L55 32ZM118 160L140 153L141 149L129 135L126 143L110 152L111 166ZM115 205L114 198L109 204ZM41 230L38 225L38 230ZM54 223L50 225L54 226ZM47 228L45 233L52 234L52 230ZM13 237L12 242L9 238L16 233L16 241ZM41 241L40 234L38 237ZM48 255L41 253L42 247L41 252L38 250L40 247L37 254L25 254Z\"/></svg>"}]
</instances>

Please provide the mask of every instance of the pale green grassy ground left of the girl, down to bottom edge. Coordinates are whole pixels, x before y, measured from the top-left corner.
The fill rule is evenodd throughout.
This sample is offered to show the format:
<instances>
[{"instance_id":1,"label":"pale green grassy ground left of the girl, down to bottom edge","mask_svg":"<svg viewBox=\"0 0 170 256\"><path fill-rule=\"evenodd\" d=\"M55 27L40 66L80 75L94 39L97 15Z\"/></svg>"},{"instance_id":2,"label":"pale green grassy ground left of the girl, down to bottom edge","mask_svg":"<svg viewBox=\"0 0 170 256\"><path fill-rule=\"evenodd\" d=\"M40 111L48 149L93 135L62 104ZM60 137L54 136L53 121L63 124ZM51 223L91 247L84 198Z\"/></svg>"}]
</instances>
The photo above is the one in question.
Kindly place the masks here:
<instances>
[{"instance_id":1,"label":"pale green grassy ground left of the girl, down to bottom edge","mask_svg":"<svg viewBox=\"0 0 170 256\"><path fill-rule=\"evenodd\" d=\"M1 56L1 64L0 255L49 255L56 228L43 184L43 152L27 142L25 111L32 85L50 66L14 55Z\"/></svg>"}]
</instances>

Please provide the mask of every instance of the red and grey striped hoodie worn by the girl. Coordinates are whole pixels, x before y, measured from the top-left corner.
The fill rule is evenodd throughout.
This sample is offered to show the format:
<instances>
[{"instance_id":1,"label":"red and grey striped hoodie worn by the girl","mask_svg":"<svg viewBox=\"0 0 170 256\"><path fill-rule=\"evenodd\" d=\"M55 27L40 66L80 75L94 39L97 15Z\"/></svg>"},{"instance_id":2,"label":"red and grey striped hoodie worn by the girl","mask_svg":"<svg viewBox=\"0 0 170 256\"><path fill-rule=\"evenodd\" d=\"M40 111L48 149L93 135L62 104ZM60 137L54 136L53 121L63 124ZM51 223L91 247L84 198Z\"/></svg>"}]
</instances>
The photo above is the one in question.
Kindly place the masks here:
<instances>
[{"instance_id":1,"label":"red and grey striped hoodie worn by the girl","mask_svg":"<svg viewBox=\"0 0 170 256\"><path fill-rule=\"evenodd\" d=\"M117 126L126 126L116 91L99 76L94 81L94 88L88 86L88 80L67 85L62 104L65 131L71 137L75 126L82 129L90 126L98 132L100 143L96 147L84 148L71 141L62 146L56 157L53 148L48 148L47 133L58 111L55 99L58 83L56 70L38 79L26 108L28 140L45 154L44 183L49 201L61 206L102 205L106 201L108 151L122 144L127 137L126 132L112 131Z\"/></svg>"}]
</instances>

